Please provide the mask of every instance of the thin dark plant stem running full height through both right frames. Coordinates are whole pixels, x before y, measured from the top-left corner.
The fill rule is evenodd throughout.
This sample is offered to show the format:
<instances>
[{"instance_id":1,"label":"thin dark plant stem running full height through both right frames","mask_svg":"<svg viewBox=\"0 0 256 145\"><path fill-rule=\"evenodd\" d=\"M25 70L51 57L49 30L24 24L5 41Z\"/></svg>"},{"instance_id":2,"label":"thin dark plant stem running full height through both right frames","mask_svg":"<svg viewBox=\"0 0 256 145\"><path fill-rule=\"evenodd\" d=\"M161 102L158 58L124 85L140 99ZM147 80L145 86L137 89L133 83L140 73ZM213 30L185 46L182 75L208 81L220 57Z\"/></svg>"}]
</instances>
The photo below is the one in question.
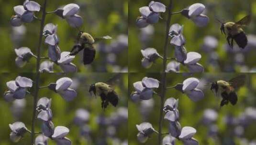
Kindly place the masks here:
<instances>
[{"instance_id":1,"label":"thin dark plant stem running full height through both right frames","mask_svg":"<svg viewBox=\"0 0 256 145\"><path fill-rule=\"evenodd\" d=\"M163 73L161 77L161 104L160 104L160 115L159 115L159 122L158 122L158 145L162 145L162 125L163 125L163 108L164 108L164 101L165 101L165 93L166 93L166 64L167 64L167 46L168 46L168 31L171 23L171 16L172 16L172 5L173 1L169 0L169 6L168 6L168 18L166 22L166 35L165 35L165 45L164 45L164 56L163 56Z\"/></svg>"}]
</instances>

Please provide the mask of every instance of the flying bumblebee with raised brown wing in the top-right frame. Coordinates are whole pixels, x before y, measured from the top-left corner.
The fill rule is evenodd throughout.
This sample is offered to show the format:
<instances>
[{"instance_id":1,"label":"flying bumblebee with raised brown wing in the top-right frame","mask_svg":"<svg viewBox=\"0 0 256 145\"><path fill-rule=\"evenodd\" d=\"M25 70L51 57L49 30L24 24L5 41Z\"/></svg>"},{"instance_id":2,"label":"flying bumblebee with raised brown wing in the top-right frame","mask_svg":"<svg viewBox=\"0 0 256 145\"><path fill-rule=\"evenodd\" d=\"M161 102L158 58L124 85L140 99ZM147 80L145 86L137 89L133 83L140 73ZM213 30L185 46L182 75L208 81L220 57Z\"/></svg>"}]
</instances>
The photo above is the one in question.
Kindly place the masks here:
<instances>
[{"instance_id":1,"label":"flying bumblebee with raised brown wing in the top-right frame","mask_svg":"<svg viewBox=\"0 0 256 145\"><path fill-rule=\"evenodd\" d=\"M240 21L237 21L237 22L219 21L222 24L221 32L222 34L224 33L226 35L226 40L228 42L228 45L232 49L233 49L233 41L235 41L240 48L245 49L245 46L247 45L248 40L242 27L248 25L250 21L251 21L250 15L245 16L244 18L242 18Z\"/></svg>"}]
</instances>

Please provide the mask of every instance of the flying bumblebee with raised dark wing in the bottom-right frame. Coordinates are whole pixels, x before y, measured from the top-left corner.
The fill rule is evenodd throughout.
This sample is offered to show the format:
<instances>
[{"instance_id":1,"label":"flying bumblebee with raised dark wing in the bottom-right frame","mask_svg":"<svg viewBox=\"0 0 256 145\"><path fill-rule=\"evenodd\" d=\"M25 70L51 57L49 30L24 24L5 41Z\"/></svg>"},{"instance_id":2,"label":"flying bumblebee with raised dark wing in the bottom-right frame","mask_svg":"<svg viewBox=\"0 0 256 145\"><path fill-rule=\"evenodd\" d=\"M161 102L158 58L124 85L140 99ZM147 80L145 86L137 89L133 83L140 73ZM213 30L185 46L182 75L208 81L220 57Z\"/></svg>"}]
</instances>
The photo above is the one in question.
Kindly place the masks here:
<instances>
[{"instance_id":1,"label":"flying bumblebee with raised dark wing in the bottom-right frame","mask_svg":"<svg viewBox=\"0 0 256 145\"><path fill-rule=\"evenodd\" d=\"M221 94L222 101L220 107L228 104L229 102L232 105L235 105L237 102L237 94L235 93L235 90L237 90L244 84L245 75L239 75L228 82L219 80L211 83L211 91L214 91L217 95Z\"/></svg>"}]
</instances>

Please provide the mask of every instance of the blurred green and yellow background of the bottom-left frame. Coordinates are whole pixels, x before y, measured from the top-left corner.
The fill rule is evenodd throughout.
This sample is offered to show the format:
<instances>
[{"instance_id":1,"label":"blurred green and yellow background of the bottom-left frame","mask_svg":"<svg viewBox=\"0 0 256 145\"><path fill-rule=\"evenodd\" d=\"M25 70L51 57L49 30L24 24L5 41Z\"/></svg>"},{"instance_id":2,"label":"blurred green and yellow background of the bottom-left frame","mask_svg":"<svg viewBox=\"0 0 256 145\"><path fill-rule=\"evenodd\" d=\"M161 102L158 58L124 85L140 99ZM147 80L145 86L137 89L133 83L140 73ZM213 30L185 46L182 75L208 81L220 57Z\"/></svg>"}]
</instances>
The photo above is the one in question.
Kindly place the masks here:
<instances>
[{"instance_id":1,"label":"blurred green and yellow background of the bottom-left frame","mask_svg":"<svg viewBox=\"0 0 256 145\"><path fill-rule=\"evenodd\" d=\"M25 76L35 79L34 73L1 73L0 74L0 92L7 90L6 82L15 80L18 76ZM89 95L89 85L96 82L111 81L113 88L119 95L119 104L113 107L111 104L103 111L101 109L100 97L95 98ZM59 94L45 88L40 89L39 98L48 97L52 99L51 109L53 112L53 123L55 126L66 126L69 128L67 137L71 139L72 145L127 145L128 132L128 74L116 73L43 73L40 77L40 86L55 83L61 77L69 77L73 80L71 88L77 91L77 97L66 102ZM33 88L30 92L33 93ZM3 96L3 95L2 95ZM33 98L27 94L22 100L16 100L8 103L3 97L0 97L0 145L30 145L30 135L27 133L18 142L12 143L10 140L11 130L9 124L15 121L23 122L31 130ZM86 127L79 127L73 120L78 109L89 111L89 122L84 124ZM41 121L36 119L35 131L41 130ZM83 131L83 132L82 132ZM83 133L83 135L81 134ZM56 145L49 140L48 145Z\"/></svg>"}]
</instances>

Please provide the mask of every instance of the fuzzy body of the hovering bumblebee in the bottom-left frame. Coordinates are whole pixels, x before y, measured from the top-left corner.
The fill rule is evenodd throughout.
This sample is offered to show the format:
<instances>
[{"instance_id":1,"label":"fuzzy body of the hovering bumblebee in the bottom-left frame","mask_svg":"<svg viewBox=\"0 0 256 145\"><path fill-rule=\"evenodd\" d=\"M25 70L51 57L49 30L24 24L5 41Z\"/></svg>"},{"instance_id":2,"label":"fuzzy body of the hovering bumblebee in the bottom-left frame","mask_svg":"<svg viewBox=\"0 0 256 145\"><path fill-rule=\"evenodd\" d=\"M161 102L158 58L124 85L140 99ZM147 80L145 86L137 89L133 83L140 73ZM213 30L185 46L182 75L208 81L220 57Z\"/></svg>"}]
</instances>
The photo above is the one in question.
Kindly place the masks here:
<instances>
[{"instance_id":1,"label":"fuzzy body of the hovering bumblebee in the bottom-left frame","mask_svg":"<svg viewBox=\"0 0 256 145\"><path fill-rule=\"evenodd\" d=\"M118 104L118 95L117 93L111 88L111 85L107 83L94 83L91 84L89 87L89 93L94 93L95 96L100 96L101 98L101 108L105 110L109 103L111 103L113 106L116 106Z\"/></svg>"}]
</instances>

